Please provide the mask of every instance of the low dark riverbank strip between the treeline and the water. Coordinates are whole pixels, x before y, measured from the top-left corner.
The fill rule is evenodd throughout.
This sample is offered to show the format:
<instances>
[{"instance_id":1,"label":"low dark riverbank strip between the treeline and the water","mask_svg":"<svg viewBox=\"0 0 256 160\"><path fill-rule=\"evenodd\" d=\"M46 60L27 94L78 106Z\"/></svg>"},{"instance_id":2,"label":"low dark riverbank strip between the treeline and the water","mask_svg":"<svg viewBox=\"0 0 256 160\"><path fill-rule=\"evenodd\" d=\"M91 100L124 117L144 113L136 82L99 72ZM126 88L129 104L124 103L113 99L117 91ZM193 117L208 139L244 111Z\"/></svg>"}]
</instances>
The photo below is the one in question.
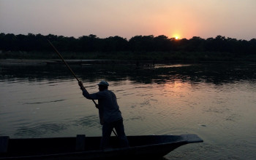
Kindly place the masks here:
<instances>
[{"instance_id":1,"label":"low dark riverbank strip between the treeline and the water","mask_svg":"<svg viewBox=\"0 0 256 160\"><path fill-rule=\"evenodd\" d=\"M236 55L229 52L61 52L65 60L100 61L114 60L127 63L127 61L178 61L178 62L256 62L256 54ZM54 52L1 52L0 60L59 60Z\"/></svg>"}]
</instances>

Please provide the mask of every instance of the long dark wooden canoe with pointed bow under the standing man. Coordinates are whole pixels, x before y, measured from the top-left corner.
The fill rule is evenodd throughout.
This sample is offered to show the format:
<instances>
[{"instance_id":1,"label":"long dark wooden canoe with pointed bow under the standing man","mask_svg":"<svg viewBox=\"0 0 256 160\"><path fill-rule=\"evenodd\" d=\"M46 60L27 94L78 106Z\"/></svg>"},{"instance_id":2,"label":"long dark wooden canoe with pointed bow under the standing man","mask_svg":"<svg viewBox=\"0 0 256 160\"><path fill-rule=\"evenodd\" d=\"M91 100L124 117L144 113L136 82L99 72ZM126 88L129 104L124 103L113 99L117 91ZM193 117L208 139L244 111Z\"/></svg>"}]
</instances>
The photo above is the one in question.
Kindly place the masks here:
<instances>
[{"instance_id":1,"label":"long dark wooden canoe with pointed bow under the standing man","mask_svg":"<svg viewBox=\"0 0 256 160\"><path fill-rule=\"evenodd\" d=\"M127 136L129 148L118 148L117 137L111 137L113 148L99 149L101 137L50 137L12 139L0 137L0 159L157 159L188 143L202 143L197 135Z\"/></svg>"}]
</instances>

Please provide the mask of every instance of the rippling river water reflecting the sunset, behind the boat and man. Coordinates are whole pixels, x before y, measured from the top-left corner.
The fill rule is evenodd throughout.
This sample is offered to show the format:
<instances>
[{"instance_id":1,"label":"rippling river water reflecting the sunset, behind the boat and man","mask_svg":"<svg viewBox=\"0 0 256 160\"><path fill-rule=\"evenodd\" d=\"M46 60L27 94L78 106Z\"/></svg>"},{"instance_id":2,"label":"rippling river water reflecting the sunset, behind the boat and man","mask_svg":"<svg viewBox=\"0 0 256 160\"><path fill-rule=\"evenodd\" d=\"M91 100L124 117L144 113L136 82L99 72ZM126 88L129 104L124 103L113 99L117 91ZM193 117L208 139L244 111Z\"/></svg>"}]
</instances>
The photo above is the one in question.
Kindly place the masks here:
<instances>
[{"instance_id":1,"label":"rippling river water reflecting the sunset, behind the boat and man","mask_svg":"<svg viewBox=\"0 0 256 160\"><path fill-rule=\"evenodd\" d=\"M197 134L165 159L256 159L254 63L71 65L89 92L109 81L127 135ZM101 136L64 65L0 65L0 135Z\"/></svg>"}]
</instances>

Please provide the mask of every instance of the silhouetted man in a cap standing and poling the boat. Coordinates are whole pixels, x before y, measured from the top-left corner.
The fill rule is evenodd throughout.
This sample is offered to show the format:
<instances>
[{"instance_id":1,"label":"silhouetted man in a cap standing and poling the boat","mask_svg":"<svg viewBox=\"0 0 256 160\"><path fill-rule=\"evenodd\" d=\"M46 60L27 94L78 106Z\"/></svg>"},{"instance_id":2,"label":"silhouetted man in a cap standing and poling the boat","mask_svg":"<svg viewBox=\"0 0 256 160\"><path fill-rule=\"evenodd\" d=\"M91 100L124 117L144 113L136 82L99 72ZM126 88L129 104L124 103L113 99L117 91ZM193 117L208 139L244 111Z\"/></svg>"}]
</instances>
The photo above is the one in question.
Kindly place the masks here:
<instances>
[{"instance_id":1,"label":"silhouetted man in a cap standing and poling the boat","mask_svg":"<svg viewBox=\"0 0 256 160\"><path fill-rule=\"evenodd\" d=\"M84 97L89 100L98 100L99 104L96 105L96 107L99 109L99 119L100 124L102 124L101 148L108 148L110 135L113 128L116 129L120 147L128 147L129 143L127 136L124 133L124 124L121 111L119 110L119 106L116 101L116 95L108 90L108 82L100 81L98 84L99 92L93 94L89 94L89 92L87 92L81 81L78 82L78 85L83 91Z\"/></svg>"}]
</instances>

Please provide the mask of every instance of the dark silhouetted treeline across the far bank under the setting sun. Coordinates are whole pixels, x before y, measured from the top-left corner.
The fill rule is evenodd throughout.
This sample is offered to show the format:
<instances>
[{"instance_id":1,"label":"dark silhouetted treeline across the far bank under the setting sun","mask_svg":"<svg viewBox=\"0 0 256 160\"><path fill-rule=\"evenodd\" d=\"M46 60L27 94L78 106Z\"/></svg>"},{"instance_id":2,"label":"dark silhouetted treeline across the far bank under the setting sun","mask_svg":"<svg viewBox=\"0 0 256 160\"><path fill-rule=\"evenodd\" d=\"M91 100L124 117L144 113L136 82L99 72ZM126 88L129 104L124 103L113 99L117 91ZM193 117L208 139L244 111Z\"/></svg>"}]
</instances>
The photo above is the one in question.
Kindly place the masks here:
<instances>
[{"instance_id":1,"label":"dark silhouetted treeline across the far bank under the setting sun","mask_svg":"<svg viewBox=\"0 0 256 160\"><path fill-rule=\"evenodd\" d=\"M225 53L233 57L255 57L256 39L250 41L217 36L202 39L194 36L192 39L174 39L167 36L133 36L127 40L120 36L99 38L96 35L80 36L79 38L56 36L49 34L15 35L0 33L0 52L52 52L48 44L51 41L60 52L200 52ZM206 54L207 55L207 54Z\"/></svg>"}]
</instances>

